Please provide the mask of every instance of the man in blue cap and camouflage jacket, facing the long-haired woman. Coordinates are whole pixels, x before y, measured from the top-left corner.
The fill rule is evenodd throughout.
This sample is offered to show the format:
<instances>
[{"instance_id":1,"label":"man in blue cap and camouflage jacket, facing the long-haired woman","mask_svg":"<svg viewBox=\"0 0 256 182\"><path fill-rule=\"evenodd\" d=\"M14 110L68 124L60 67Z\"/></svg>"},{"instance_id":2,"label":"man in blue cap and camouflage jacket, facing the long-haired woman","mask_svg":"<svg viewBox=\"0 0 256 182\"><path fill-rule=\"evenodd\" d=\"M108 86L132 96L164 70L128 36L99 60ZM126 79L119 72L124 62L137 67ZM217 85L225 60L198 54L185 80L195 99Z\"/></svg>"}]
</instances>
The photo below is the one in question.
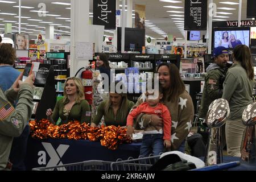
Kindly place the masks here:
<instances>
[{"instance_id":1,"label":"man in blue cap and camouflage jacket, facing the long-haired woman","mask_svg":"<svg viewBox=\"0 0 256 182\"><path fill-rule=\"evenodd\" d=\"M221 98L225 80L226 62L229 60L228 49L219 46L213 52L214 63L207 67L203 96L200 104L199 118L205 119L210 104Z\"/></svg>"}]
</instances>

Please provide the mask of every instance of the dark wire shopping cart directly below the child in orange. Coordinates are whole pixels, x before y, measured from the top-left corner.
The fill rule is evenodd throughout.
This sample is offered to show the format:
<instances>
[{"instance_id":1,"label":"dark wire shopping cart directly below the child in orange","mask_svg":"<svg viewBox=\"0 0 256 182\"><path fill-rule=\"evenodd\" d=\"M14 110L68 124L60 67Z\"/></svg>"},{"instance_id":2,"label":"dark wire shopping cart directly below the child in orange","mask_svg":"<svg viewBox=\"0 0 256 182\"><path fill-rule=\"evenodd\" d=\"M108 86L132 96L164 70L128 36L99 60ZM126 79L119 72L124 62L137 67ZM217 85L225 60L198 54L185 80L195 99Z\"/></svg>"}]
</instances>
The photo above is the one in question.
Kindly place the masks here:
<instances>
[{"instance_id":1,"label":"dark wire shopping cart directly below the child in orange","mask_svg":"<svg viewBox=\"0 0 256 182\"><path fill-rule=\"evenodd\" d=\"M139 157L138 159L129 158L127 160L117 160L117 162L112 162L112 171L148 171L150 167L155 164L160 158L157 156L148 156L146 158Z\"/></svg>"}]
</instances>

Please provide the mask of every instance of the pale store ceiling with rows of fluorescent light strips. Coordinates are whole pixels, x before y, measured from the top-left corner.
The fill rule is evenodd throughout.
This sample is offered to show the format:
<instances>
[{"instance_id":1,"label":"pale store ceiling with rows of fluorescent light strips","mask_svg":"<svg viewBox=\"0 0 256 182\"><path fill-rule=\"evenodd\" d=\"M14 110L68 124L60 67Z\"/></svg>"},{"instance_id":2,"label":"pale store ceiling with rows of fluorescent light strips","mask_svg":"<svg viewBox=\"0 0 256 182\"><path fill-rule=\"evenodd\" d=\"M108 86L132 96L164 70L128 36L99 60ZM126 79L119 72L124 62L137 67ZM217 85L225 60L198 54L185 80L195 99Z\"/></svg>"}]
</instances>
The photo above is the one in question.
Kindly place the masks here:
<instances>
[{"instance_id":1,"label":"pale store ceiling with rows of fluorescent light strips","mask_svg":"<svg viewBox=\"0 0 256 182\"><path fill-rule=\"evenodd\" d=\"M18 22L18 18L14 18L14 16L18 16L18 0L6 0L6 1L13 1L16 3L2 3L0 2L0 32L4 31L4 24L8 22L3 22L5 20L11 20ZM88 0L85 0L88 1ZM90 1L90 12L92 12L93 9L93 0ZM127 0L126 0L127 1ZM168 1L168 0L167 0ZM146 5L146 19L150 20L150 23L153 23L155 26L158 26L161 30L163 30L166 34L172 34L176 36L177 38L183 38L183 35L181 34L180 30L177 28L176 22L172 18L183 18L183 17L174 17L170 16L170 14L177 14L177 13L168 13L167 11L183 11L182 9L171 9L168 7L163 6L181 6L184 7L184 0L177 0L180 1L179 3L170 3L170 2L159 2L159 0L133 0L133 5L139 4L139 5ZM238 0L227 0L229 2L236 2L238 3ZM45 17L39 17L38 13L30 12L30 10L39 10L38 7L39 3L45 3L46 4L46 11L49 11L48 14L53 15L60 15L61 18L70 18L70 9L66 9L67 7L70 7L70 5L56 5L52 4L52 2L65 2L70 3L70 0L22 0L22 6L30 6L34 7L33 9L22 9L22 16L31 17L31 18L22 18L22 31L24 32L33 32L33 33L43 33L45 31L44 28L39 27L45 27L46 23L39 23L36 21L28 20L28 19L40 19L43 20L43 22L52 22L53 24L61 24L60 26L67 26L67 27L59 27L55 25L56 33L57 34L70 34L70 22L67 22L65 19L57 19L58 17L55 16L45 16ZM236 10L220 10L217 9L217 12L224 11L227 13L232 13L229 15L223 15L223 14L217 14L218 16L228 16L228 18L214 18L214 19L225 19L225 20L237 20L238 19L238 5L226 5L222 4L220 0L213 0L213 3L216 3L217 8L218 7L231 7ZM208 1L209 3L209 1ZM242 20L246 19L246 0L242 1ZM120 4L122 4L122 1L120 1ZM134 9L134 7L133 7ZM16 15L4 15L1 13L13 13ZM179 15L184 15L184 13L180 13ZM3 20L1 20L3 19ZM92 19L92 18L91 18ZM179 20L184 21L184 20ZM181 22L178 22L181 23ZM36 27L35 27L35 26ZM13 23L13 30L18 30L18 24ZM59 30L58 30L59 29ZM106 32L107 35L113 35ZM206 31L202 31L201 35L206 34ZM163 38L162 35L156 34L154 31L150 30L149 28L146 28L146 35L151 36L153 38Z\"/></svg>"}]
</instances>

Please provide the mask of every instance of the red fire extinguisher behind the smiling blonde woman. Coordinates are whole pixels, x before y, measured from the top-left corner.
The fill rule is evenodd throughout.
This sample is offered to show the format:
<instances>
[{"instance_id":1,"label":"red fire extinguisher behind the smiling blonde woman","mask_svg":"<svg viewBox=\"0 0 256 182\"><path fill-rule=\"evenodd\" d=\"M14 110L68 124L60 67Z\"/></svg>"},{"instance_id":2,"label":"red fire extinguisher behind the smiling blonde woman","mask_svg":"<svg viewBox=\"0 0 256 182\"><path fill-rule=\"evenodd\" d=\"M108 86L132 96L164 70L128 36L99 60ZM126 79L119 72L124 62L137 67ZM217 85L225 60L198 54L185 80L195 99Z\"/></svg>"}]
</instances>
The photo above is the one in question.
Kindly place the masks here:
<instances>
[{"instance_id":1,"label":"red fire extinguisher behind the smiling blonde woman","mask_svg":"<svg viewBox=\"0 0 256 182\"><path fill-rule=\"evenodd\" d=\"M88 68L82 72L82 86L84 86L85 100L93 104L93 73Z\"/></svg>"}]
</instances>

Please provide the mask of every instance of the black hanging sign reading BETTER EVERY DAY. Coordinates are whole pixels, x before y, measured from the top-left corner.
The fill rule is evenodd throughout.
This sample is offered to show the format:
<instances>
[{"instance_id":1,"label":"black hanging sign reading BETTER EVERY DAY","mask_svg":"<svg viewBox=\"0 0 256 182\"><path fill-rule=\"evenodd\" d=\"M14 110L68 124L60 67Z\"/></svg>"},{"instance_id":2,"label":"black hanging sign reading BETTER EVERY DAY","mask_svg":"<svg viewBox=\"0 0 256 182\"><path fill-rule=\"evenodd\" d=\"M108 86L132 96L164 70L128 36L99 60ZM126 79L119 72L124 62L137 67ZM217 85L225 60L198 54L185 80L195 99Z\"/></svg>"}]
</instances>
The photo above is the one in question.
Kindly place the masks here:
<instances>
[{"instance_id":1,"label":"black hanging sign reading BETTER EVERY DAY","mask_svg":"<svg viewBox=\"0 0 256 182\"><path fill-rule=\"evenodd\" d=\"M207 0L185 0L184 30L207 30Z\"/></svg>"}]
</instances>

